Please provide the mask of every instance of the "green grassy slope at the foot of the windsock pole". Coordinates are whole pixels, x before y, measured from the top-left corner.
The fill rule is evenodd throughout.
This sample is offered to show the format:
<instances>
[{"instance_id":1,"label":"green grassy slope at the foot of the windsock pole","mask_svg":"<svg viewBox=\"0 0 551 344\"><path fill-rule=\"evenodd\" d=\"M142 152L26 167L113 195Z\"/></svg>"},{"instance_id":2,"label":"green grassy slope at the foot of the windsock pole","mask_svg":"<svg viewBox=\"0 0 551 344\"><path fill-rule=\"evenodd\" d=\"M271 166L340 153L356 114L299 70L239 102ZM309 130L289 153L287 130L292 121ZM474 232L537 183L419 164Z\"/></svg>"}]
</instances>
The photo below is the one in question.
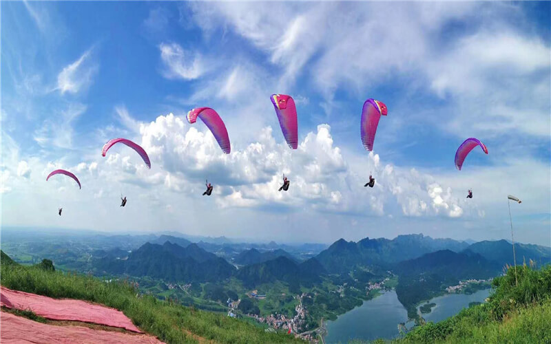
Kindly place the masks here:
<instances>
[{"instance_id":1,"label":"green grassy slope at the foot of the windsock pole","mask_svg":"<svg viewBox=\"0 0 551 344\"><path fill-rule=\"evenodd\" d=\"M551 266L517 268L493 281L488 303L416 327L395 343L550 343ZM384 341L377 341L384 343Z\"/></svg>"}]
</instances>

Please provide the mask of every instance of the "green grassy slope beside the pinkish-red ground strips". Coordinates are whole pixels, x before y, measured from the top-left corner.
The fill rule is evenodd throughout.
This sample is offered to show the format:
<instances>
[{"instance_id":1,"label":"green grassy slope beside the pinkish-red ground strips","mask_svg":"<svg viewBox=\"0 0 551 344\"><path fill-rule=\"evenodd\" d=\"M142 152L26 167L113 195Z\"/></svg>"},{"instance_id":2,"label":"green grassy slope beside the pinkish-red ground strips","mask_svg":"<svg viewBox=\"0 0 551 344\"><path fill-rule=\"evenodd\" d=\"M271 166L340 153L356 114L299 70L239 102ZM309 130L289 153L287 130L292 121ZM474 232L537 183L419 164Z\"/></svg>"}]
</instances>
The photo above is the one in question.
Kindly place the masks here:
<instances>
[{"instance_id":1,"label":"green grassy slope beside the pinkish-red ground strips","mask_svg":"<svg viewBox=\"0 0 551 344\"><path fill-rule=\"evenodd\" d=\"M116 308L142 330L166 343L194 343L197 340L193 335L218 343L300 342L292 336L264 332L250 323L220 314L170 304L151 296L136 297L136 290L125 283L105 283L93 277L47 272L32 266L1 264L0 269L0 283L6 288Z\"/></svg>"}]
</instances>

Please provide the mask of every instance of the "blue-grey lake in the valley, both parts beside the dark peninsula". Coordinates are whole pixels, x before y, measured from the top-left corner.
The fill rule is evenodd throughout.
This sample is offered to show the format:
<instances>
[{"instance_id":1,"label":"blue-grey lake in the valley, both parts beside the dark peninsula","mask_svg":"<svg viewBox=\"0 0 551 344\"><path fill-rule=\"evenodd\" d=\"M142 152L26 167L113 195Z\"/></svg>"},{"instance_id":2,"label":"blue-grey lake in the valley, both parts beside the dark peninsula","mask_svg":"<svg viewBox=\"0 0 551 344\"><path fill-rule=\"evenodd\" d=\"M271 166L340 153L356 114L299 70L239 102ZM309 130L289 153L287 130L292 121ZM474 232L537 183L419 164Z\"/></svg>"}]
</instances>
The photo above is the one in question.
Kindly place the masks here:
<instances>
[{"instance_id":1,"label":"blue-grey lake in the valley, both parts beside the dark peninsula","mask_svg":"<svg viewBox=\"0 0 551 344\"><path fill-rule=\"evenodd\" d=\"M426 321L438 322L457 314L467 308L470 302L484 302L490 294L490 289L479 290L474 294L447 294L431 299L436 303L432 312L423 314ZM377 338L390 339L399 334L398 324L406 323L408 312L398 301L394 290L384 292L380 297L364 301L364 303L349 312L341 314L335 321L326 321L327 334L325 342L347 343L351 339L373 341ZM413 325L406 323L409 328Z\"/></svg>"}]
</instances>

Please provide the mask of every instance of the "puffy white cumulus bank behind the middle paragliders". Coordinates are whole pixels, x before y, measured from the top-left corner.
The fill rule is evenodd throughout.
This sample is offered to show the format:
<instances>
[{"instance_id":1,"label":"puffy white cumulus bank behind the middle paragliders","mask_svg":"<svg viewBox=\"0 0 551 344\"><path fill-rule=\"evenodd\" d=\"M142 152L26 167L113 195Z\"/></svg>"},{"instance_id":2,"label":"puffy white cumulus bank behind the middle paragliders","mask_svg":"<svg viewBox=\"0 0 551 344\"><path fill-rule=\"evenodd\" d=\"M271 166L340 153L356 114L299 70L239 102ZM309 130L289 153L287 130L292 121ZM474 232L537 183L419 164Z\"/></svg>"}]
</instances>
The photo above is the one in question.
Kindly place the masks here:
<instances>
[{"instance_id":1,"label":"puffy white cumulus bank behind the middle paragliders","mask_svg":"<svg viewBox=\"0 0 551 344\"><path fill-rule=\"evenodd\" d=\"M296 150L282 140L276 141L271 127L265 127L256 142L233 147L230 155L222 153L208 129L199 131L174 114L141 125L140 133L144 149L164 173L167 189L181 191L190 183L196 187L188 190L199 189L202 180L208 178L215 185L216 204L221 208L277 211L306 207L372 215L400 209L406 216L463 215L451 189L446 187L444 192L430 175L391 164L383 166L373 152L361 171L352 168L335 146L331 126L326 124L307 133ZM357 187L364 184L366 169L377 175L376 187L369 191ZM278 191L283 173L291 180L291 192ZM394 197L388 197L388 191Z\"/></svg>"}]
</instances>

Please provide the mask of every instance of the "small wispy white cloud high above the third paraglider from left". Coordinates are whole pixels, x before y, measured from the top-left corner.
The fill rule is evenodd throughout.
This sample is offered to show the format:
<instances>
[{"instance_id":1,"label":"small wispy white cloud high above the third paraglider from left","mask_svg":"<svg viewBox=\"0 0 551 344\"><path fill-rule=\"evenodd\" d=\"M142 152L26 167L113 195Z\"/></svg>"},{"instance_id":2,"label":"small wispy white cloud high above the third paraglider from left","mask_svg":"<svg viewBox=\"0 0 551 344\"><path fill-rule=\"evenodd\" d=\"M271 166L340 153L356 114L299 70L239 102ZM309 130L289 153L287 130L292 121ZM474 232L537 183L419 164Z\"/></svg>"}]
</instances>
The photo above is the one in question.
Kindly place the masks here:
<instances>
[{"instance_id":1,"label":"small wispy white cloud high above the third paraglider from left","mask_svg":"<svg viewBox=\"0 0 551 344\"><path fill-rule=\"evenodd\" d=\"M177 43L161 43L160 58L165 64L165 78L193 80L206 72L206 66L198 54L183 50Z\"/></svg>"}]
</instances>

